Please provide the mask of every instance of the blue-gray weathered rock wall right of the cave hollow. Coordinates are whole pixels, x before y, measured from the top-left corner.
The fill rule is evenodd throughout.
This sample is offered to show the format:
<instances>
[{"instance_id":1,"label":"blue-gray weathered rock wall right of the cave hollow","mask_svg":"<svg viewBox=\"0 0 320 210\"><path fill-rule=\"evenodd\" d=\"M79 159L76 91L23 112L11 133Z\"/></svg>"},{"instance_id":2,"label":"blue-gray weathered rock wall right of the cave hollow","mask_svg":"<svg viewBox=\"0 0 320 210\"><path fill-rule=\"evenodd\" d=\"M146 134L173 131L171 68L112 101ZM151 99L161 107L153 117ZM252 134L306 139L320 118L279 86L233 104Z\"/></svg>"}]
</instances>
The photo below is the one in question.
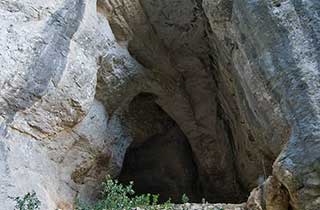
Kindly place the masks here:
<instances>
[{"instance_id":1,"label":"blue-gray weathered rock wall right of the cave hollow","mask_svg":"<svg viewBox=\"0 0 320 210\"><path fill-rule=\"evenodd\" d=\"M273 176L288 190L291 208L319 208L319 2L234 1L231 6L203 1L203 5L220 43L236 44L231 60L244 77L242 86L251 90L258 106L269 99L279 103L290 125L289 141L273 165ZM224 18L217 18L214 11L223 11ZM260 91L262 85L266 92ZM271 94L262 97L265 93Z\"/></svg>"}]
</instances>

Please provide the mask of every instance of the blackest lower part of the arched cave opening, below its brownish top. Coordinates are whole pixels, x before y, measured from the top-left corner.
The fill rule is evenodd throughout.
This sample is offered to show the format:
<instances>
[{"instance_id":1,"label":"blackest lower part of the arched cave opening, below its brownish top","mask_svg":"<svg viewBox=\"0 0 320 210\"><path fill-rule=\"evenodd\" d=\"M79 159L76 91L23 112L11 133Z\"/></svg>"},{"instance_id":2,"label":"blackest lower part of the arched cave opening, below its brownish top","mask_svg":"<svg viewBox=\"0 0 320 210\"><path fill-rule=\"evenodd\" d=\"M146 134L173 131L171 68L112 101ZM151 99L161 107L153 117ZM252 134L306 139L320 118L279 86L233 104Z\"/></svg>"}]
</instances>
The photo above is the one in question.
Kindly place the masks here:
<instances>
[{"instance_id":1,"label":"blackest lower part of the arched cave opening, below its brownish top","mask_svg":"<svg viewBox=\"0 0 320 210\"><path fill-rule=\"evenodd\" d=\"M137 194L158 194L159 201L169 198L181 202L183 194L197 202L197 169L186 137L174 125L167 133L157 134L126 153L120 182L134 182Z\"/></svg>"}]
</instances>

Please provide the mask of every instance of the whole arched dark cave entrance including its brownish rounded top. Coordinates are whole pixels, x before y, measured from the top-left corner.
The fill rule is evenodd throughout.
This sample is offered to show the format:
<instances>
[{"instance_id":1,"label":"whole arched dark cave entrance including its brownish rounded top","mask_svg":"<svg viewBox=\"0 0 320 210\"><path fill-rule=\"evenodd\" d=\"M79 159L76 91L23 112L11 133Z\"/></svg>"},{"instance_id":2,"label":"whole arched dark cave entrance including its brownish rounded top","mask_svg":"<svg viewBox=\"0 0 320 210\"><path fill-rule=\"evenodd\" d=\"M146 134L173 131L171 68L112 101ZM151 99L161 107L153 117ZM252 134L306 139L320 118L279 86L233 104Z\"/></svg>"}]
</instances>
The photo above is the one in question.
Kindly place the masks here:
<instances>
[{"instance_id":1,"label":"whole arched dark cave entrance including its brownish rounded top","mask_svg":"<svg viewBox=\"0 0 320 210\"><path fill-rule=\"evenodd\" d=\"M159 201L169 198L181 202L186 194L199 201L197 167L187 137L177 123L155 103L151 94L140 94L129 106L133 142L127 149L121 183L134 182L137 194L159 194Z\"/></svg>"}]
</instances>

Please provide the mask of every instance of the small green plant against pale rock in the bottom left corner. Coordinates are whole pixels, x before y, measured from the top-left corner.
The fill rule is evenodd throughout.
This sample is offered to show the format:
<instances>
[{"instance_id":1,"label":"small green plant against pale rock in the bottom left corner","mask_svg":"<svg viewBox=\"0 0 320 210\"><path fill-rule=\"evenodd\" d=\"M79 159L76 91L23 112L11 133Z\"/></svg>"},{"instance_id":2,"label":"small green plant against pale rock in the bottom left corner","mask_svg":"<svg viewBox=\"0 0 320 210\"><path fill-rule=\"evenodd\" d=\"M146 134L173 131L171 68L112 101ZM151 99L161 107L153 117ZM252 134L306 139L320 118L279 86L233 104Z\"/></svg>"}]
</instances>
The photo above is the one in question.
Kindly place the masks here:
<instances>
[{"instance_id":1,"label":"small green plant against pale rock in the bottom left corner","mask_svg":"<svg viewBox=\"0 0 320 210\"><path fill-rule=\"evenodd\" d=\"M13 200L16 202L16 210L38 210L40 209L41 202L37 198L35 191L28 192L23 197L15 197Z\"/></svg>"}]
</instances>

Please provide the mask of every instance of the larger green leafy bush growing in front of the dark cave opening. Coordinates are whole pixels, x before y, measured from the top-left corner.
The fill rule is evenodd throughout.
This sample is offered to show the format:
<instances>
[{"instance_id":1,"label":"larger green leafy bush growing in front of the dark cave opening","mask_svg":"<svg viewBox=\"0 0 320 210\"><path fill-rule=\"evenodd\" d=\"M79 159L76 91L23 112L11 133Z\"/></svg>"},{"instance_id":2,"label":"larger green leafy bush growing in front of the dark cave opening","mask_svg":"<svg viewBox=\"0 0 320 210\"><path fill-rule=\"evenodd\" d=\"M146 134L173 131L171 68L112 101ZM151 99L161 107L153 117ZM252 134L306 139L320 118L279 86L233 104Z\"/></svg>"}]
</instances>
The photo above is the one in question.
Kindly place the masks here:
<instances>
[{"instance_id":1,"label":"larger green leafy bush growing in front of the dark cave opening","mask_svg":"<svg viewBox=\"0 0 320 210\"><path fill-rule=\"evenodd\" d=\"M76 210L131 210L137 207L145 210L173 209L170 199L166 203L159 204L159 195L135 195L133 182L124 186L118 180L107 177L102 187L102 198L96 204L90 206L77 200ZM184 194L182 200L187 202L189 199Z\"/></svg>"}]
</instances>

